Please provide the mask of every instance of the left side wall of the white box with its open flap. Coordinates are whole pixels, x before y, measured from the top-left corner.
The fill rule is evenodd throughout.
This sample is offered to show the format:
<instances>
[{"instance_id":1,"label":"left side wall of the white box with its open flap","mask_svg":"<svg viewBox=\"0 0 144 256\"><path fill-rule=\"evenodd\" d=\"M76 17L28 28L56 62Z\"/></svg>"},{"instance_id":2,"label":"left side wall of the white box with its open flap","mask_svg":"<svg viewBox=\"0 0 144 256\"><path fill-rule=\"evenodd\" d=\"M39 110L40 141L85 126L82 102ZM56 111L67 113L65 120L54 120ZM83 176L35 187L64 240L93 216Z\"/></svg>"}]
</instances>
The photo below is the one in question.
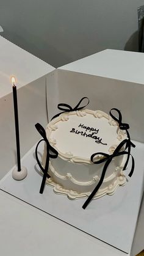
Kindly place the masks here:
<instances>
[{"instance_id":1,"label":"left side wall of the white box with its open flap","mask_svg":"<svg viewBox=\"0 0 144 256\"><path fill-rule=\"evenodd\" d=\"M55 68L1 36L0 53L0 178L2 178L16 163L13 93L10 76L13 75L16 78L22 157L39 139L35 123L40 122L44 126L48 123L46 75Z\"/></svg>"}]
</instances>

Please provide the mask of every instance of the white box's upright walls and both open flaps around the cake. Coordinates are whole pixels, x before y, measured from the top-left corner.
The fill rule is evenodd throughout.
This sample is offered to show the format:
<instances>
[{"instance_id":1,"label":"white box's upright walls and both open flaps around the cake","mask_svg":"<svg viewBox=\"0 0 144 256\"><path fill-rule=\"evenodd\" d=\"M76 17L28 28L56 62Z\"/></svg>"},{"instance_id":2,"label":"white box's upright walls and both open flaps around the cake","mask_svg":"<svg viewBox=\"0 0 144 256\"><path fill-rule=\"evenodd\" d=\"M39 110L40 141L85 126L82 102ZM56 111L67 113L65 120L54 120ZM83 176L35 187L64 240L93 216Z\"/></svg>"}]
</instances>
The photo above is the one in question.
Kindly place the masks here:
<instances>
[{"instance_id":1,"label":"white box's upright walls and both open flaps around the cake","mask_svg":"<svg viewBox=\"0 0 144 256\"><path fill-rule=\"evenodd\" d=\"M39 122L45 126L48 122L46 103L48 103L50 120L59 112L57 110L58 103L67 103L74 107L82 97L90 99L90 104L87 107L90 109L100 109L107 113L111 108L120 109L123 122L128 122L131 127L129 131L132 139L139 142L144 141L143 54L106 50L56 70L40 60L37 63L36 57L31 54L27 55L26 51L4 38L0 38L0 45L1 49L7 49L5 51L6 59L4 56L4 60L2 60L5 63L4 70L1 68L2 86L5 84L10 87L9 77L11 75L16 76L21 86L18 89L18 106L22 156L38 140L39 136L34 128L35 123ZM14 55L13 52L15 52ZM16 56L18 56L18 62L16 62ZM9 59L9 65L6 64L7 59ZM23 65L20 65L21 62L24 62ZM2 62L1 67L4 67ZM2 131L0 153L2 156L1 168L4 170L1 175L4 175L15 164L15 128L10 90L11 87L8 91L2 89L0 98ZM7 158L10 161L5 161ZM6 186L5 183L2 186ZM142 199L143 183L141 183L139 191L138 204ZM142 233L142 229L139 230ZM134 252L137 253L143 249L141 241L139 244L136 241L135 244L133 251L131 251L131 247L127 250L129 255L130 251L133 255ZM123 246L121 247L124 251Z\"/></svg>"}]
</instances>

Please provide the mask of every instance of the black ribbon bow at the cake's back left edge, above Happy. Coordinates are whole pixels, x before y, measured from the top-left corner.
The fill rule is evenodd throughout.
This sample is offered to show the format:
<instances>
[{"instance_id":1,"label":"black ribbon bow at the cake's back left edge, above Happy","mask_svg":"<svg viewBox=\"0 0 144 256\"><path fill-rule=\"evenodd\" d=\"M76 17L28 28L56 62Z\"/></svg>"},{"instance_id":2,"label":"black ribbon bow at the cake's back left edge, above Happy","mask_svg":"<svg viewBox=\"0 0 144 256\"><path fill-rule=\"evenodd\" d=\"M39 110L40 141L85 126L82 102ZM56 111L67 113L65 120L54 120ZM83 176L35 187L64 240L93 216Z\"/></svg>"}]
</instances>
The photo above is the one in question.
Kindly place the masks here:
<instances>
[{"instance_id":1,"label":"black ribbon bow at the cake's back left edge, above Happy","mask_svg":"<svg viewBox=\"0 0 144 256\"><path fill-rule=\"evenodd\" d=\"M84 106L81 106L79 107L79 105L81 104L81 102L84 100L84 99L87 99L88 100L88 103L85 104ZM74 107L74 108L71 108L70 105L66 104L66 103L59 103L57 105L57 108L62 110L62 112L60 112L59 114L57 115L54 115L54 117L52 117L52 119L56 118L56 117L59 117L60 114L64 113L64 112L71 112L71 111L77 111L77 110L81 110L83 108L85 108L88 104L89 104L89 99L87 97L83 97L81 98L81 100L79 101L79 103L77 103L77 105ZM51 120L52 120L51 119Z\"/></svg>"}]
</instances>

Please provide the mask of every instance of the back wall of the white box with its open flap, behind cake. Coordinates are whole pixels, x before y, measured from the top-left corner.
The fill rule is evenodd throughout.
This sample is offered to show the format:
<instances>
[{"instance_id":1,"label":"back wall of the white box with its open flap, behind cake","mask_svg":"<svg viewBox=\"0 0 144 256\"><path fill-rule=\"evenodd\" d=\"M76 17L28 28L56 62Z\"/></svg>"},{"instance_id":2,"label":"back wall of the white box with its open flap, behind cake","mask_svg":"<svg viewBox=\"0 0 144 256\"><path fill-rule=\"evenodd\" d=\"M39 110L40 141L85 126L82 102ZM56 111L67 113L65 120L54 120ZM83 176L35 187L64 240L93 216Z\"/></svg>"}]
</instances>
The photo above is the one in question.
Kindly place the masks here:
<instances>
[{"instance_id":1,"label":"back wall of the white box with its open flap, behind cake","mask_svg":"<svg viewBox=\"0 0 144 256\"><path fill-rule=\"evenodd\" d=\"M143 53L107 49L58 68L54 76L48 75L47 79L49 120L59 112L58 103L67 103L74 108L82 97L88 97L90 104L87 108L107 113L111 108L120 109L123 122L129 123L131 138L144 142L143 63ZM139 203L143 183L141 186ZM138 233L142 235L143 225L141 229L139 225ZM129 247L129 254L143 249L142 237L135 237L134 244L139 244L139 248Z\"/></svg>"}]
</instances>

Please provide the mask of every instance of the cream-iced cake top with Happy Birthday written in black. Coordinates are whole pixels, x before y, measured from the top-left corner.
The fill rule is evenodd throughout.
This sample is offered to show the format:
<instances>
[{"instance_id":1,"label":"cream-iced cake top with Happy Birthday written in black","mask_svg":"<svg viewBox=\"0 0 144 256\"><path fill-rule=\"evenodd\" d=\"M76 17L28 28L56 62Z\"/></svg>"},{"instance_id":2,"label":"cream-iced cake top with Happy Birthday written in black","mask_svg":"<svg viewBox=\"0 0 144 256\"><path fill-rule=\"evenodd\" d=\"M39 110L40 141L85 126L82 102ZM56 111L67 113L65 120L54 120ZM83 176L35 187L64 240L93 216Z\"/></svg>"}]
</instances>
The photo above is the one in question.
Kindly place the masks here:
<instances>
[{"instance_id":1,"label":"cream-iced cake top with Happy Birthday written in black","mask_svg":"<svg viewBox=\"0 0 144 256\"><path fill-rule=\"evenodd\" d=\"M60 157L83 163L90 163L93 153L111 155L126 138L110 115L89 109L60 114L49 122L46 135Z\"/></svg>"}]
</instances>

